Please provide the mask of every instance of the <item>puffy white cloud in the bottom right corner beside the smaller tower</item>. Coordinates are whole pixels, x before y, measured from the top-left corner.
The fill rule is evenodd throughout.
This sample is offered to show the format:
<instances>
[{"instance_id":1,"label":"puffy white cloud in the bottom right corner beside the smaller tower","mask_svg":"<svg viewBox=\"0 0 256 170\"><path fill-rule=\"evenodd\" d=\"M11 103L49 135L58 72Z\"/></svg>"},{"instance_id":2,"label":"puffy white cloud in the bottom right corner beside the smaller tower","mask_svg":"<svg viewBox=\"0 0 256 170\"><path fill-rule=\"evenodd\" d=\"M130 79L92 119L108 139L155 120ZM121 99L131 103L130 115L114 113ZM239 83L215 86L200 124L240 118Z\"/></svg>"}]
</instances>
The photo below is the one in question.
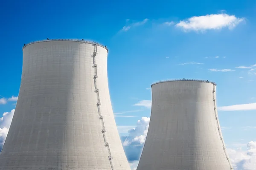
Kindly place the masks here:
<instances>
[{"instance_id":1,"label":"puffy white cloud in the bottom right corner beside the smaller tower","mask_svg":"<svg viewBox=\"0 0 256 170\"><path fill-rule=\"evenodd\" d=\"M227 149L234 170L255 170L256 167L256 142L247 143L247 151Z\"/></svg>"}]
</instances>

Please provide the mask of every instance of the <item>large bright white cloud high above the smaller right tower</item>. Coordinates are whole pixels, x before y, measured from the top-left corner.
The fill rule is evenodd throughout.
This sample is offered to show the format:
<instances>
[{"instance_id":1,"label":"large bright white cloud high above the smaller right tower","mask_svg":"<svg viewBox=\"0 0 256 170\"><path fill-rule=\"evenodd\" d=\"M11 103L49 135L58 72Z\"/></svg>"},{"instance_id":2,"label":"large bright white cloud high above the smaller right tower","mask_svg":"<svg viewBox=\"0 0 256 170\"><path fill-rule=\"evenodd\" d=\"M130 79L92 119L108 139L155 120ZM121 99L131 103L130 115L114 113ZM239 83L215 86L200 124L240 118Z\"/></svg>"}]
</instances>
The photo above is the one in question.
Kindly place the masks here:
<instances>
[{"instance_id":1,"label":"large bright white cloud high above the smaller right tower","mask_svg":"<svg viewBox=\"0 0 256 170\"><path fill-rule=\"evenodd\" d=\"M244 20L244 18L238 18L235 17L235 15L207 14L182 20L177 23L176 26L183 28L184 31L206 31L209 29L221 29L224 27L231 30Z\"/></svg>"}]
</instances>

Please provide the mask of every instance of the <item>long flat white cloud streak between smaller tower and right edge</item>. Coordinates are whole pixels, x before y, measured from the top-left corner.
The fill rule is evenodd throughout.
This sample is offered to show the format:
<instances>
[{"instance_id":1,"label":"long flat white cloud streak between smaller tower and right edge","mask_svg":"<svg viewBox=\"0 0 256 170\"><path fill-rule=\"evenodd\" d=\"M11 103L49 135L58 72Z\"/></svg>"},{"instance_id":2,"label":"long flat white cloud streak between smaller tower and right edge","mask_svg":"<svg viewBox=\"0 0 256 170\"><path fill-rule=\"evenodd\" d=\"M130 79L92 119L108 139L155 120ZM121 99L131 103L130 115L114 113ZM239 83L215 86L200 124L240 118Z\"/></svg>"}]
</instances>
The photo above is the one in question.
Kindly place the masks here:
<instances>
[{"instance_id":1,"label":"long flat white cloud streak between smaller tower and right edge","mask_svg":"<svg viewBox=\"0 0 256 170\"><path fill-rule=\"evenodd\" d=\"M219 111L251 111L251 110L256 110L256 103L222 106L222 107L218 107L218 110Z\"/></svg>"}]
</instances>

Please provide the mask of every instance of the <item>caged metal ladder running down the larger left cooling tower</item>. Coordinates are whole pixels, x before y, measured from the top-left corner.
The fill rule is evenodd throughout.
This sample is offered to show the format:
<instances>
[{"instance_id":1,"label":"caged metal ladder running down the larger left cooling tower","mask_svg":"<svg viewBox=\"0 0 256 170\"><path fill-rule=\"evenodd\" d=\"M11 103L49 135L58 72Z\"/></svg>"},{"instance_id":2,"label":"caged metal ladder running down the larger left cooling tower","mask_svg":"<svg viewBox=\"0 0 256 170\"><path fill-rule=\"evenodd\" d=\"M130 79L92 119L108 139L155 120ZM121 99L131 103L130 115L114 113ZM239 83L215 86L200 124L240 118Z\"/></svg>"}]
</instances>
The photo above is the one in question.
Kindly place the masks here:
<instances>
[{"instance_id":1,"label":"caged metal ladder running down the larger left cooling tower","mask_svg":"<svg viewBox=\"0 0 256 170\"><path fill-rule=\"evenodd\" d=\"M105 132L106 132L106 129L105 129L105 124L104 124L104 120L103 120L103 116L101 114L101 110L100 110L100 99L99 99L99 89L97 88L97 81L96 79L98 78L98 75L97 75L97 64L96 64L96 56L98 55L97 54L97 44L93 44L94 45L94 52L93 52L93 68L94 68L94 75L93 75L93 79L94 79L94 88L95 88L95 93L97 95L97 108L98 108L98 113L99 113L99 119L101 120L102 122L102 135L103 135L103 139L104 139L104 142L105 142L105 147L108 148L108 160L110 162L110 165L111 165L111 169L113 170L113 162L112 162L112 156L111 156L111 151L110 151L110 147L109 147L109 143L107 142L107 139L106 139L106 135L105 135Z\"/></svg>"}]
</instances>

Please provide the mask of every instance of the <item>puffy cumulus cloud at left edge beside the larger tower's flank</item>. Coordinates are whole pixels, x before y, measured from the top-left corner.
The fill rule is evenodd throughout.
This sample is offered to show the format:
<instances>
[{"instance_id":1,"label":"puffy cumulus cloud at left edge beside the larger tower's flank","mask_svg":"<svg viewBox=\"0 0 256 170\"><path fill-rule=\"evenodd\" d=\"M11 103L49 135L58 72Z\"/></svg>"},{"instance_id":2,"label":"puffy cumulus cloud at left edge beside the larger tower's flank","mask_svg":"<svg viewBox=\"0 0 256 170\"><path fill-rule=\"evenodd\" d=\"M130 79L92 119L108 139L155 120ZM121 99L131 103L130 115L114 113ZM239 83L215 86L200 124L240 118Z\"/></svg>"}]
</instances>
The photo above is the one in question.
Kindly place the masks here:
<instances>
[{"instance_id":1,"label":"puffy cumulus cloud at left edge beside the larger tower's flank","mask_svg":"<svg viewBox=\"0 0 256 170\"><path fill-rule=\"evenodd\" d=\"M7 133L9 131L14 111L15 110L13 109L11 112L5 112L3 113L3 117L0 118L0 150L2 150Z\"/></svg>"}]
</instances>

